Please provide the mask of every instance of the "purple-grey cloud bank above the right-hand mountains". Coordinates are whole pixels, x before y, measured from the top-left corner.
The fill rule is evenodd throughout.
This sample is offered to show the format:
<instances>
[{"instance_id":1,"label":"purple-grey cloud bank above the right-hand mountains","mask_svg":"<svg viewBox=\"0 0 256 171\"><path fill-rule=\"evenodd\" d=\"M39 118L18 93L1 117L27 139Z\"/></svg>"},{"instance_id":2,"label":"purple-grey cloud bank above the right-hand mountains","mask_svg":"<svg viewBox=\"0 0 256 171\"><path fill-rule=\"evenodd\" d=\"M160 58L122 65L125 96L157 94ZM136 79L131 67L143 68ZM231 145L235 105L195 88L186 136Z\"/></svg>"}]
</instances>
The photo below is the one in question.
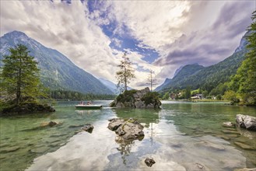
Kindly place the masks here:
<instances>
[{"instance_id":1,"label":"purple-grey cloud bank above the right-hand mountains","mask_svg":"<svg viewBox=\"0 0 256 171\"><path fill-rule=\"evenodd\" d=\"M209 12L213 11L204 13L202 10L202 13L199 13L194 10L202 6L205 7L202 9L207 9L211 3L219 6L219 11L214 15L209 26L200 26L201 23L209 21L198 22L197 19L202 16L208 18ZM189 19L190 22L185 26L191 30L184 29L181 37L163 47L166 54L162 53L162 57L154 62L154 65L165 66L158 76L170 78L181 65L198 63L209 66L229 57L238 47L247 26L251 24L251 12L254 11L254 5L255 2L194 2L189 11L191 16L188 17L195 18L199 27L191 27L195 26L195 23ZM240 10L241 8L248 10ZM201 29L198 30L200 27Z\"/></svg>"}]
</instances>

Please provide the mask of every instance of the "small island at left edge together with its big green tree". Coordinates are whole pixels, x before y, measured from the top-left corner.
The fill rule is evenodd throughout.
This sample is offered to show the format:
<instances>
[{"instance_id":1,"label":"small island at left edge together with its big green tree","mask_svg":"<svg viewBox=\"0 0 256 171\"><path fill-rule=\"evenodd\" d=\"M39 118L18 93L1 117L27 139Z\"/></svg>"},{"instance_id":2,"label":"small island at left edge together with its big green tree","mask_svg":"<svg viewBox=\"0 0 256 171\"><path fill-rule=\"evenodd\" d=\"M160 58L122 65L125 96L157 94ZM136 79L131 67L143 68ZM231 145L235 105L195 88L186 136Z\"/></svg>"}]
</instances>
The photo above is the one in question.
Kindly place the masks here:
<instances>
[{"instance_id":1,"label":"small island at left edge together with its big green tree","mask_svg":"<svg viewBox=\"0 0 256 171\"><path fill-rule=\"evenodd\" d=\"M18 44L9 48L5 55L1 72L0 114L54 112L54 108L44 103L48 99L47 89L40 83L40 69L37 61L29 55L27 47Z\"/></svg>"}]
</instances>

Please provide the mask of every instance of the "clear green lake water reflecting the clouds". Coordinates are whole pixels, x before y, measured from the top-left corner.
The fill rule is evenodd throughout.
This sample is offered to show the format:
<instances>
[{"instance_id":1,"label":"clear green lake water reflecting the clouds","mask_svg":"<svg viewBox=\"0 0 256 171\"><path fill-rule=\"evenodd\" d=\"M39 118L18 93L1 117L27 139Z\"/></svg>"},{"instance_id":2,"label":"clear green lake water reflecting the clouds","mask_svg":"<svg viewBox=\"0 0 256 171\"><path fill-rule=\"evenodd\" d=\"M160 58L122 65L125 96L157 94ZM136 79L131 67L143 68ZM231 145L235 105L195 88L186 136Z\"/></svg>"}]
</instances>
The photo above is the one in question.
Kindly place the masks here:
<instances>
[{"instance_id":1,"label":"clear green lake water reflecting the clouds","mask_svg":"<svg viewBox=\"0 0 256 171\"><path fill-rule=\"evenodd\" d=\"M75 110L58 102L54 113L1 117L1 170L233 170L256 167L256 132L223 127L256 108L224 103L163 101L162 110ZM122 141L107 129L114 117L137 119L145 137ZM57 121L54 127L40 125ZM91 134L81 131L93 124ZM244 145L244 146L243 146ZM145 159L156 164L148 167Z\"/></svg>"}]
</instances>

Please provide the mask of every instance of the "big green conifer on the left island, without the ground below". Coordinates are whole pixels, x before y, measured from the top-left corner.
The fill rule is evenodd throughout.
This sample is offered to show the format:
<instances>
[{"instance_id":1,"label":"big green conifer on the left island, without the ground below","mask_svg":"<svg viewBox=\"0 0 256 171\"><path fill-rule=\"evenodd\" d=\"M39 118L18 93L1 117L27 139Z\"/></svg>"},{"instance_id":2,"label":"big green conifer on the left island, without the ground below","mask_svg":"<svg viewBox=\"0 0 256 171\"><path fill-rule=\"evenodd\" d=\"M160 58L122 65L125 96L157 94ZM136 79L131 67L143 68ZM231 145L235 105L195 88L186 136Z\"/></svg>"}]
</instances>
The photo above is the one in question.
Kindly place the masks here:
<instances>
[{"instance_id":1,"label":"big green conifer on the left island, without the ground below","mask_svg":"<svg viewBox=\"0 0 256 171\"><path fill-rule=\"evenodd\" d=\"M2 91L9 97L15 96L16 105L34 101L40 96L40 77L37 61L29 55L27 47L18 44L9 48L10 55L2 60Z\"/></svg>"}]
</instances>

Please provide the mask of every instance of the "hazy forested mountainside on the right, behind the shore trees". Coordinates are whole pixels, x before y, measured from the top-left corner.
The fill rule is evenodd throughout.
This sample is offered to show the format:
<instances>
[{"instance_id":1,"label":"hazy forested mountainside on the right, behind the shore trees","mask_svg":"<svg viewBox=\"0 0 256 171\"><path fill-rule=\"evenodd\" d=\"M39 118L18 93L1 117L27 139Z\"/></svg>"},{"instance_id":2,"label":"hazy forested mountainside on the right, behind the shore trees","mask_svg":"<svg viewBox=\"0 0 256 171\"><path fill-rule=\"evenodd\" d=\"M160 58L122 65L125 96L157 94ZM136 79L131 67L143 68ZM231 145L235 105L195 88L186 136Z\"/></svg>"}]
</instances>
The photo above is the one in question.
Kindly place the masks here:
<instances>
[{"instance_id":1,"label":"hazy forested mountainside on the right, behind the shore trees","mask_svg":"<svg viewBox=\"0 0 256 171\"><path fill-rule=\"evenodd\" d=\"M242 61L244 61L245 54L247 53L247 35L250 34L248 31L245 33L244 37L240 40L240 45L237 47L236 51L224 61L220 61L216 65L211 65L209 67L201 67L200 65L191 65L190 68L184 66L181 71L174 76L167 85L162 86L162 89L158 91L167 91L170 88L174 89L184 89L187 86L191 86L191 89L198 89L199 87L211 91L219 83L227 82L231 75L237 72L237 68L240 67ZM193 69L195 67L195 69Z\"/></svg>"}]
</instances>

